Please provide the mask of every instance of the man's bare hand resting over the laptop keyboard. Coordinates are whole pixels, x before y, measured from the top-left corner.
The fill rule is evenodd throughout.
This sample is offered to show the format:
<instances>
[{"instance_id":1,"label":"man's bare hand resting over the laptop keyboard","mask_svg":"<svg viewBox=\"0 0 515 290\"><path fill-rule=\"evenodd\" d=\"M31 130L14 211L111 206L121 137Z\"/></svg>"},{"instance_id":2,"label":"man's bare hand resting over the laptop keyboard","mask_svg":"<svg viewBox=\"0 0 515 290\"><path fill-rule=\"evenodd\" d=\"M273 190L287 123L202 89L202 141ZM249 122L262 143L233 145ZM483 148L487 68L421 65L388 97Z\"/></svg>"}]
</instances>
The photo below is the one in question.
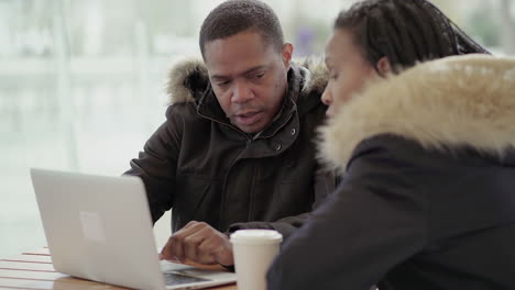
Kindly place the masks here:
<instances>
[{"instance_id":1,"label":"man's bare hand resting over the laptop keyboard","mask_svg":"<svg viewBox=\"0 0 515 290\"><path fill-rule=\"evenodd\" d=\"M160 255L161 259L198 264L234 264L229 238L204 222L189 222L173 234Z\"/></svg>"}]
</instances>

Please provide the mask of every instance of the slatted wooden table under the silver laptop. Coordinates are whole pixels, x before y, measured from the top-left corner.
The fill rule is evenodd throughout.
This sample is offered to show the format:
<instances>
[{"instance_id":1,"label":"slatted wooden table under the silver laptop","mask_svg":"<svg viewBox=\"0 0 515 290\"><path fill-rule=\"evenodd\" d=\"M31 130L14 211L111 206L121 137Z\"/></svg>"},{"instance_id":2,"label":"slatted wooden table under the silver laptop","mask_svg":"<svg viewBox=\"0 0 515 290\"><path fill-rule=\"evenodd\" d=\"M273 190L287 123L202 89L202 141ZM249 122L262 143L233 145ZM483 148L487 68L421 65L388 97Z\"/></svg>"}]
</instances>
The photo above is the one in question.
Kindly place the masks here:
<instances>
[{"instance_id":1,"label":"slatted wooden table under the silver laptop","mask_svg":"<svg viewBox=\"0 0 515 290\"><path fill-rule=\"evenodd\" d=\"M56 272L47 248L23 253L0 259L0 290L118 290L122 287L73 278ZM235 285L208 288L212 290L238 290Z\"/></svg>"}]
</instances>

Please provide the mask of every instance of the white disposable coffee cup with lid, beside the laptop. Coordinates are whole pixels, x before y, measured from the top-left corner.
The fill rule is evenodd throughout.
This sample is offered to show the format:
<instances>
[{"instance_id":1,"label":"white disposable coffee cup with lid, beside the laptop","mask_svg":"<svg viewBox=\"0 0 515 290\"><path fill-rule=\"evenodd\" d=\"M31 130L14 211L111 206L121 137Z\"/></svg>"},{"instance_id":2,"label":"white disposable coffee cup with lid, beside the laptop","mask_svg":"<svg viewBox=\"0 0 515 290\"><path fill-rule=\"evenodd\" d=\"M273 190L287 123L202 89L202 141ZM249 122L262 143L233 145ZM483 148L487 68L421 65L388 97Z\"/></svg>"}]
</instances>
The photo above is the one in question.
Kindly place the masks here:
<instances>
[{"instance_id":1,"label":"white disposable coffee cup with lid, beside the laptop","mask_svg":"<svg viewBox=\"0 0 515 290\"><path fill-rule=\"evenodd\" d=\"M266 271L280 252L283 235L273 230L239 230L230 241L238 289L266 290Z\"/></svg>"}]
</instances>

